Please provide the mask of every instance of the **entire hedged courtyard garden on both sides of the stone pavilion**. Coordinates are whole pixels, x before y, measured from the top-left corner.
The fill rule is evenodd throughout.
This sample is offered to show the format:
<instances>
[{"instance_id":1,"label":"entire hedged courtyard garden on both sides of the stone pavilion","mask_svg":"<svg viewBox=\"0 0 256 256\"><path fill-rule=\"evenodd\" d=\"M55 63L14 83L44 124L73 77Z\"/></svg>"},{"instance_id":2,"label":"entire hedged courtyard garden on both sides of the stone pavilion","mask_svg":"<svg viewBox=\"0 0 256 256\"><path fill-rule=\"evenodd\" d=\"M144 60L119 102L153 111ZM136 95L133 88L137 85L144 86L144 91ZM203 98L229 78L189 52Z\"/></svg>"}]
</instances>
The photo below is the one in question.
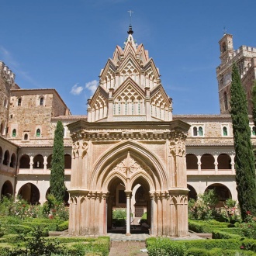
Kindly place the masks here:
<instances>
[{"instance_id":1,"label":"entire hedged courtyard garden on both sides of the stone pavilion","mask_svg":"<svg viewBox=\"0 0 256 256\"><path fill-rule=\"evenodd\" d=\"M146 240L148 254L256 255L256 218L247 212L247 220L242 222L236 202L228 199L223 207L216 208L217 201L214 191L189 201L190 232L210 234L211 239L150 237ZM122 211L113 215L119 221L126 217ZM147 219L146 214L144 219ZM109 255L109 237L70 237L64 231L67 228L68 207L52 195L42 206L3 197L0 203L0 255Z\"/></svg>"}]
</instances>

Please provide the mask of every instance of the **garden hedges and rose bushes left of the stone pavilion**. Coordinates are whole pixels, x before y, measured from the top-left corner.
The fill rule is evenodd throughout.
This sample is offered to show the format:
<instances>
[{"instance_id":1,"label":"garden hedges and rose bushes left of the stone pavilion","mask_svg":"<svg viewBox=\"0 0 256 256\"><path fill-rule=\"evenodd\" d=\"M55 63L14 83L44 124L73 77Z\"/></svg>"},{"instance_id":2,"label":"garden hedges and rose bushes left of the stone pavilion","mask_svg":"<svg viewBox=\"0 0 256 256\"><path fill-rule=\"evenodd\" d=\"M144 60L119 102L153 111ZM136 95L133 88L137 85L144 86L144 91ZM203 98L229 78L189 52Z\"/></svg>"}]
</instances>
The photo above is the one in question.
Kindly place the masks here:
<instances>
[{"instance_id":1,"label":"garden hedges and rose bushes left of the stone pavilion","mask_svg":"<svg viewBox=\"0 0 256 256\"><path fill-rule=\"evenodd\" d=\"M48 196L43 206L3 197L0 203L0 255L109 254L109 237L59 236L68 228L68 207Z\"/></svg>"}]
</instances>

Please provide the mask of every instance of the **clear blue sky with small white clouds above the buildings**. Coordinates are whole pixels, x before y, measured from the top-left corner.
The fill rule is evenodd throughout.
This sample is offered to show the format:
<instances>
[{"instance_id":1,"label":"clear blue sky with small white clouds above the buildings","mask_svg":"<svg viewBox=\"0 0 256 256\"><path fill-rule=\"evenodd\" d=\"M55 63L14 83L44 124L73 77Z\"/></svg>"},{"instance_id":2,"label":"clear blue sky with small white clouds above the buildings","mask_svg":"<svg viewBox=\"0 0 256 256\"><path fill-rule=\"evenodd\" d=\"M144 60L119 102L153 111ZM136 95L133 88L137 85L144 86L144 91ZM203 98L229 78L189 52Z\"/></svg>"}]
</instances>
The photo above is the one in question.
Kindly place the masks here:
<instances>
[{"instance_id":1,"label":"clear blue sky with small white clouds above the buildings","mask_svg":"<svg viewBox=\"0 0 256 256\"><path fill-rule=\"evenodd\" d=\"M218 41L226 27L235 49L256 47L255 0L0 0L0 60L19 87L56 88L84 115L101 69L123 46L130 9L133 38L160 69L174 114L220 113Z\"/></svg>"}]
</instances>

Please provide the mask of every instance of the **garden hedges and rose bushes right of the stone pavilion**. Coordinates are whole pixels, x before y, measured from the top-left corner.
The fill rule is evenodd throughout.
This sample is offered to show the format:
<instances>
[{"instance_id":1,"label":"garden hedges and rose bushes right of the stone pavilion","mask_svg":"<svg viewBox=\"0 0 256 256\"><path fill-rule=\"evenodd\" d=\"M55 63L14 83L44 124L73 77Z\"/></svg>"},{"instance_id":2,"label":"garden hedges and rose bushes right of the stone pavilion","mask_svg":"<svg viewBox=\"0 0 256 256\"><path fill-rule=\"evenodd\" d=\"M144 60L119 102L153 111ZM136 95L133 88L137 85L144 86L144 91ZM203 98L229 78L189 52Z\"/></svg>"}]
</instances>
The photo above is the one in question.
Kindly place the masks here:
<instances>
[{"instance_id":1,"label":"garden hedges and rose bushes right of the stone pavilion","mask_svg":"<svg viewBox=\"0 0 256 256\"><path fill-rule=\"evenodd\" d=\"M211 234L212 239L170 240L150 237L147 250L150 256L233 256L256 255L256 218L247 212L242 222L237 203L231 199L216 208L214 190L189 200L189 230L196 234Z\"/></svg>"}]
</instances>

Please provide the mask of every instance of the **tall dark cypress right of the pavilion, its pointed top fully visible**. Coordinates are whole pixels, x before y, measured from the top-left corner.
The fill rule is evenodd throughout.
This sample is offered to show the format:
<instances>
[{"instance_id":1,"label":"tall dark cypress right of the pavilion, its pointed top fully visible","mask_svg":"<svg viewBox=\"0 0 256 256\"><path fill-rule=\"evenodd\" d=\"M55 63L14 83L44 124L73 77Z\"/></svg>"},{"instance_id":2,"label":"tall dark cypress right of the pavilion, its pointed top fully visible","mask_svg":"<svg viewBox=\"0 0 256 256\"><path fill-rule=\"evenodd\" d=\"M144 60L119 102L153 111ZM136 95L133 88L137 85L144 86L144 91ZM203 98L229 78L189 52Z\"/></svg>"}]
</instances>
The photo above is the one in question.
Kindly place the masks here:
<instances>
[{"instance_id":1,"label":"tall dark cypress right of the pavilion, its pointed top fully visible","mask_svg":"<svg viewBox=\"0 0 256 256\"><path fill-rule=\"evenodd\" d=\"M230 92L230 114L233 123L234 148L236 152L235 168L237 195L242 220L246 220L248 213L253 215L256 214L255 167L247 99L236 64L233 64L232 67L232 84Z\"/></svg>"}]
</instances>

